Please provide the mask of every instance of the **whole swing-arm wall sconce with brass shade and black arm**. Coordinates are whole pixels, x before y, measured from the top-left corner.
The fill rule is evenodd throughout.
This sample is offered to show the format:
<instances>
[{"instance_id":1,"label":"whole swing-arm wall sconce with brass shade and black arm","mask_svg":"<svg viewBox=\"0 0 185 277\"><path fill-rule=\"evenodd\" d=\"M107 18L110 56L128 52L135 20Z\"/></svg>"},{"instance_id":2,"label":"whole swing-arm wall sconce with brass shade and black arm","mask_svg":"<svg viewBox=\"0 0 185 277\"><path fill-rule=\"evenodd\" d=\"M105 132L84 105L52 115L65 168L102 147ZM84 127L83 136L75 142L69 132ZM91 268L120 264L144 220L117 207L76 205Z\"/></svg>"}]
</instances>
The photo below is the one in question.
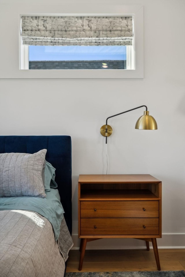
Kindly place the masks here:
<instances>
[{"instance_id":1,"label":"whole swing-arm wall sconce with brass shade and black arm","mask_svg":"<svg viewBox=\"0 0 185 277\"><path fill-rule=\"evenodd\" d=\"M128 111L124 111L122 113L127 113L127 112L130 112L130 111L136 110L138 108L142 108L142 107L145 107L146 111L144 111L144 115L142 115L138 118L135 129L157 130L156 120L153 118L153 116L149 115L149 111L147 110L147 106L145 106L145 105L133 108ZM116 115L121 115L122 113L117 113ZM107 143L107 137L112 134L112 127L110 125L107 125L107 120L116 115L111 115L111 116L107 117L106 124L101 126L101 128L100 128L100 133L102 134L102 136L106 137L106 143Z\"/></svg>"}]
</instances>

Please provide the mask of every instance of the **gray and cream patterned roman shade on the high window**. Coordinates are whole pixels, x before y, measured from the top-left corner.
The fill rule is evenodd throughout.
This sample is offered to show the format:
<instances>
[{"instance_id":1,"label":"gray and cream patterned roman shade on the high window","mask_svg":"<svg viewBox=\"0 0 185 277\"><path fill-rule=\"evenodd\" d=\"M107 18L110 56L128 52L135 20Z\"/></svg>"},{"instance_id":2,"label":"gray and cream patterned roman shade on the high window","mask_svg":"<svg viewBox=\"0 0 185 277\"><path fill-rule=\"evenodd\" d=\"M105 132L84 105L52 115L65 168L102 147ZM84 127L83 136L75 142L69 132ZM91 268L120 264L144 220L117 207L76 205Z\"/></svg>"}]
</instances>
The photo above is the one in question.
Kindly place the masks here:
<instances>
[{"instance_id":1,"label":"gray and cream patterned roman shade on the high window","mask_svg":"<svg viewBox=\"0 0 185 277\"><path fill-rule=\"evenodd\" d=\"M132 16L22 16L24 45L132 45Z\"/></svg>"}]
</instances>

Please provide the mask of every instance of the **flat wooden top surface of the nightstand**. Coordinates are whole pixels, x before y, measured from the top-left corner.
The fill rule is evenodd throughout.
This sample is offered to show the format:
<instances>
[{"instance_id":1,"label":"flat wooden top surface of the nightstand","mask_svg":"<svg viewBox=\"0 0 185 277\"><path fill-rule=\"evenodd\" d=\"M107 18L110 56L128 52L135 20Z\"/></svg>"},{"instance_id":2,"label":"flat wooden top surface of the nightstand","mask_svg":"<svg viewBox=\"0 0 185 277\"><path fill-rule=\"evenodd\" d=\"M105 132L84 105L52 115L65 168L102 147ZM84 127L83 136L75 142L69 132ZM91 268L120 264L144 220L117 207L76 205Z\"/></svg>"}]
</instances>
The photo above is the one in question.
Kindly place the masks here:
<instances>
[{"instance_id":1,"label":"flat wooden top surface of the nightstand","mask_svg":"<svg viewBox=\"0 0 185 277\"><path fill-rule=\"evenodd\" d=\"M150 174L85 174L79 175L79 183L160 183Z\"/></svg>"}]
</instances>

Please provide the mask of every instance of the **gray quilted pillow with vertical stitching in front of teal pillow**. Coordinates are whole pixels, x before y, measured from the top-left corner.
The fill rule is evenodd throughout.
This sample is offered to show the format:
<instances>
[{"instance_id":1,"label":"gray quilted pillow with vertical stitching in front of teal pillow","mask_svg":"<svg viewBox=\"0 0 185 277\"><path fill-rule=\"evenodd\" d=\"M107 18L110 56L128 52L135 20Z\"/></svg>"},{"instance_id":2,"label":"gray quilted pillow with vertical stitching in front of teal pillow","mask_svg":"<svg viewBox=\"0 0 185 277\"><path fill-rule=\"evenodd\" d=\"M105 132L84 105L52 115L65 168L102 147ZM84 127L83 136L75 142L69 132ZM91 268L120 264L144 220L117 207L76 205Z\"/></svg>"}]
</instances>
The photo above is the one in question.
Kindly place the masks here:
<instances>
[{"instance_id":1,"label":"gray quilted pillow with vertical stitching in front of teal pillow","mask_svg":"<svg viewBox=\"0 0 185 277\"><path fill-rule=\"evenodd\" d=\"M42 181L46 152L0 154L0 197L46 197Z\"/></svg>"}]
</instances>

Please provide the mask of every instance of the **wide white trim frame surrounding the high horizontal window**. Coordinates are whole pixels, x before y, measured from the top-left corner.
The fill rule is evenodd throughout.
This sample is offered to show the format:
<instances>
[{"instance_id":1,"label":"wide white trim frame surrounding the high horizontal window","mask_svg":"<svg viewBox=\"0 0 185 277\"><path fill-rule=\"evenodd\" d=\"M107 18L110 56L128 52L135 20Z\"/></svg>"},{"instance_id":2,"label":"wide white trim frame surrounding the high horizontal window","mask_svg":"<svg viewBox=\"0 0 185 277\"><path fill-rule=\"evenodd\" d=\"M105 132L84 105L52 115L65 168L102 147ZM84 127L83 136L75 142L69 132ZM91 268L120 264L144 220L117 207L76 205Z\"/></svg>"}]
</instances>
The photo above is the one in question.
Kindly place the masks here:
<instances>
[{"instance_id":1,"label":"wide white trim frame surrounding the high horizontal window","mask_svg":"<svg viewBox=\"0 0 185 277\"><path fill-rule=\"evenodd\" d=\"M4 38L1 43L3 55L0 63L0 78L143 78L143 6L142 5L104 5L89 8L74 4L73 6L56 5L3 5L0 11L1 23L7 22L7 29L2 29ZM59 12L62 11L60 14ZM21 41L20 18L21 16L133 16L135 44L135 69L134 70L20 70ZM19 38L18 38L19 33ZM13 41L13 43L12 43ZM18 54L19 53L19 54ZM26 55L26 53L24 53ZM19 55L19 56L18 56ZM28 68L28 64L24 64Z\"/></svg>"}]
</instances>

